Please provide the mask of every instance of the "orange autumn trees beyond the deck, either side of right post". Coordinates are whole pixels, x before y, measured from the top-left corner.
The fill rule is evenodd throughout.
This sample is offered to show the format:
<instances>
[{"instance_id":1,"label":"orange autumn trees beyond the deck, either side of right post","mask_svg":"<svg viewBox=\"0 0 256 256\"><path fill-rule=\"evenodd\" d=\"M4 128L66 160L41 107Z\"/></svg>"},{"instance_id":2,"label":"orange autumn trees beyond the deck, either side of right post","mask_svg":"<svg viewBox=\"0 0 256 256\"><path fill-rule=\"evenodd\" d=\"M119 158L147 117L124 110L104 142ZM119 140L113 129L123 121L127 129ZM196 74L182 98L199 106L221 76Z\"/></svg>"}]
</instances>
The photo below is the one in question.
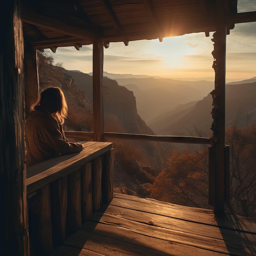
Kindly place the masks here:
<instances>
[{"instance_id":1,"label":"orange autumn trees beyond the deck, either side of right post","mask_svg":"<svg viewBox=\"0 0 256 256\"><path fill-rule=\"evenodd\" d=\"M230 146L230 210L256 217L256 122L226 130ZM174 150L168 168L148 184L150 196L186 206L208 208L208 149Z\"/></svg>"}]
</instances>

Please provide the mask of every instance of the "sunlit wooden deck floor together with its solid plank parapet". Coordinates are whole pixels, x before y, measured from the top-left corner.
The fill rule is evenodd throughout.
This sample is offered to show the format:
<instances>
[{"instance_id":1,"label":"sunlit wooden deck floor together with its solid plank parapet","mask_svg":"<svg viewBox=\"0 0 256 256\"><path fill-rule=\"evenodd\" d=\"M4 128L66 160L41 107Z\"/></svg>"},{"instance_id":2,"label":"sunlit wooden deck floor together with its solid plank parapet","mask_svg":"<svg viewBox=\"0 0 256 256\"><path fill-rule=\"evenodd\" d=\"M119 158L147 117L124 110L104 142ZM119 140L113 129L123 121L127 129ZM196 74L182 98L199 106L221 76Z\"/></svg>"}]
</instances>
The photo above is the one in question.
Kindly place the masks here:
<instances>
[{"instance_id":1,"label":"sunlit wooden deck floor together with its solid plank parapet","mask_svg":"<svg viewBox=\"0 0 256 256\"><path fill-rule=\"evenodd\" d=\"M256 220L113 196L112 143L84 145L28 168L31 256L256 255Z\"/></svg>"}]
</instances>

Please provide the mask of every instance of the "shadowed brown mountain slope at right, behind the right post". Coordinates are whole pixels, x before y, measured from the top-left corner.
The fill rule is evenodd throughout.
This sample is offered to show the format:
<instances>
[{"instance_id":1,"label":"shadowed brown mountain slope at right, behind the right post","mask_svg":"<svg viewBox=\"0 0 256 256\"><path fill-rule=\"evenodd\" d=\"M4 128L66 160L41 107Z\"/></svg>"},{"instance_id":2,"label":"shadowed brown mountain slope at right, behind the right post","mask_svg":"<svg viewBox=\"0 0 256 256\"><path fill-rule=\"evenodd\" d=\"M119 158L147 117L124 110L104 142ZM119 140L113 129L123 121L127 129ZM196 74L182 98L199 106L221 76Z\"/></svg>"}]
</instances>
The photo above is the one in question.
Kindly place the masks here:
<instances>
[{"instance_id":1,"label":"shadowed brown mountain slope at right, behind the right post","mask_svg":"<svg viewBox=\"0 0 256 256\"><path fill-rule=\"evenodd\" d=\"M237 122L238 127L251 124L256 120L256 82L245 84L227 84L226 86L226 128ZM158 122L152 122L158 135L191 135L197 136L199 130L205 136L211 134L212 97L210 94L183 112L173 113ZM168 123L168 124L167 124ZM167 125L166 125L167 124Z\"/></svg>"}]
</instances>

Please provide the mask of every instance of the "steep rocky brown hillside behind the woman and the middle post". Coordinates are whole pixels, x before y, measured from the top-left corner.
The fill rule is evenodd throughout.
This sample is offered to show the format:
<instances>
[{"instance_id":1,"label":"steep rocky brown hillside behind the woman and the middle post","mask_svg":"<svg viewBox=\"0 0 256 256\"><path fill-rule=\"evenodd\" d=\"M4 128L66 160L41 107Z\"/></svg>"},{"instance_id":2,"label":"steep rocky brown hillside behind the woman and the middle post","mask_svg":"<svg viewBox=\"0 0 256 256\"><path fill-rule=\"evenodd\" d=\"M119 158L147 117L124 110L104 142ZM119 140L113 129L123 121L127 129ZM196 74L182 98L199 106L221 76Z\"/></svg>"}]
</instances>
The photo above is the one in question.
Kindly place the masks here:
<instances>
[{"instance_id":1,"label":"steep rocky brown hillside behind the woman and the middle post","mask_svg":"<svg viewBox=\"0 0 256 256\"><path fill-rule=\"evenodd\" d=\"M58 86L67 99L69 109L65 130L92 131L92 77L53 66L42 56L40 61L43 62L39 70L40 89ZM131 91L104 77L103 92L105 131L155 134L137 114ZM115 152L115 192L148 196L144 184L153 183L166 167L166 160L170 157L169 146L149 141L111 141Z\"/></svg>"}]
</instances>

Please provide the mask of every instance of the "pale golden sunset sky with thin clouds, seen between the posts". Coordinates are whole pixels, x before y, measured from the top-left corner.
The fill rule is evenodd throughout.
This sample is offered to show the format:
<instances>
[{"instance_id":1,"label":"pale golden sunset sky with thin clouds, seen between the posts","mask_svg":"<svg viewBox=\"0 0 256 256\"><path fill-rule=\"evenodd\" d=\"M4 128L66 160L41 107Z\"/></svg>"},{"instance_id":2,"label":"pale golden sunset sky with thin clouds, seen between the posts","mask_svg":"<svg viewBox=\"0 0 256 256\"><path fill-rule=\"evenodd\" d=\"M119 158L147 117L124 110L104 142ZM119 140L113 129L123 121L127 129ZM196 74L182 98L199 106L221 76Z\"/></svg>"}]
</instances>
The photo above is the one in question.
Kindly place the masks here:
<instances>
[{"instance_id":1,"label":"pale golden sunset sky with thin clouds, seen between the posts","mask_svg":"<svg viewBox=\"0 0 256 256\"><path fill-rule=\"evenodd\" d=\"M256 11L256 0L238 0L238 12ZM116 74L144 74L172 78L213 77L213 33L186 34L156 40L110 43L104 48L104 71ZM92 72L92 45L58 48L56 63L67 70ZM256 22L236 24L227 35L227 79L256 76Z\"/></svg>"}]
</instances>

